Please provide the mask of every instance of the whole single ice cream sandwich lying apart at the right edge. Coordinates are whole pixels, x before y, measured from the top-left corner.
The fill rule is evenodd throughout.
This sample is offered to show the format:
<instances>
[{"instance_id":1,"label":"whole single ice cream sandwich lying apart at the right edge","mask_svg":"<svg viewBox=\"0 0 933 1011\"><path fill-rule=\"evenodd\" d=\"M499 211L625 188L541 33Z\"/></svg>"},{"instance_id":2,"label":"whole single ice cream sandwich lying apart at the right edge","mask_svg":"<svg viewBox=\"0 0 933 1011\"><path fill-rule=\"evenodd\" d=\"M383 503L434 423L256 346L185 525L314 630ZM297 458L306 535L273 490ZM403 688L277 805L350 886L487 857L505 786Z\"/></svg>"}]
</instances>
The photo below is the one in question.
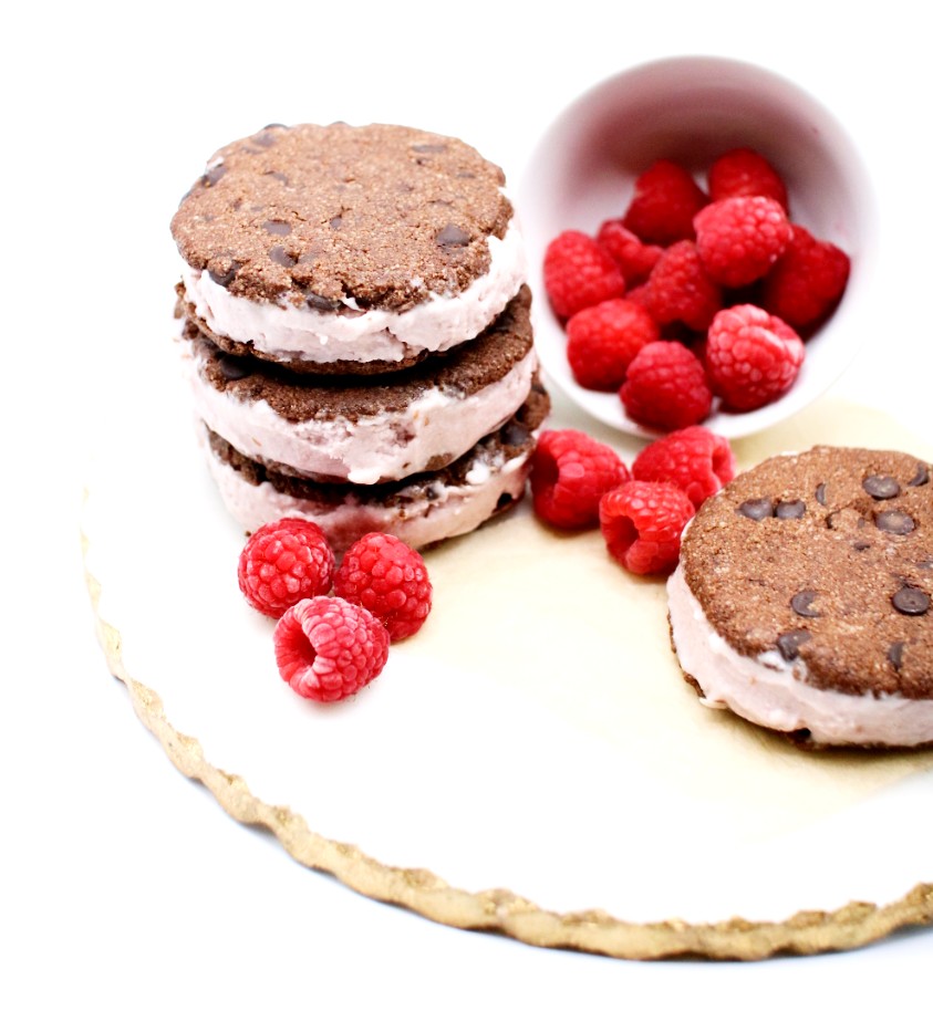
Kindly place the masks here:
<instances>
[{"instance_id":1,"label":"whole single ice cream sandwich lying apart at the right edge","mask_svg":"<svg viewBox=\"0 0 933 1011\"><path fill-rule=\"evenodd\" d=\"M933 477L817 447L707 500L668 581L705 705L810 744L933 743Z\"/></svg>"}]
</instances>

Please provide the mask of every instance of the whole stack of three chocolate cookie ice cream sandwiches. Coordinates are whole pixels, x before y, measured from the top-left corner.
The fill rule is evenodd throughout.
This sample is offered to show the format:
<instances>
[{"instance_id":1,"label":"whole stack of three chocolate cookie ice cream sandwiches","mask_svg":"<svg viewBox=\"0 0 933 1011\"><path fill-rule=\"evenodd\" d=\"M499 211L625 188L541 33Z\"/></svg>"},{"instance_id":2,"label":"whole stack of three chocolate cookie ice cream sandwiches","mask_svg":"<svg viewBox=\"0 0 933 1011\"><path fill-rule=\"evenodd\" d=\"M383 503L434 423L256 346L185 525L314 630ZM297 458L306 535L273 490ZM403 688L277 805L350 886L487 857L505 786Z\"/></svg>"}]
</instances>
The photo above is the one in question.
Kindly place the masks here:
<instances>
[{"instance_id":1,"label":"whole stack of three chocolate cookie ice cream sandwiches","mask_svg":"<svg viewBox=\"0 0 933 1011\"><path fill-rule=\"evenodd\" d=\"M400 126L267 126L172 222L211 473L246 530L419 548L521 498L548 413L501 169Z\"/></svg>"}]
</instances>

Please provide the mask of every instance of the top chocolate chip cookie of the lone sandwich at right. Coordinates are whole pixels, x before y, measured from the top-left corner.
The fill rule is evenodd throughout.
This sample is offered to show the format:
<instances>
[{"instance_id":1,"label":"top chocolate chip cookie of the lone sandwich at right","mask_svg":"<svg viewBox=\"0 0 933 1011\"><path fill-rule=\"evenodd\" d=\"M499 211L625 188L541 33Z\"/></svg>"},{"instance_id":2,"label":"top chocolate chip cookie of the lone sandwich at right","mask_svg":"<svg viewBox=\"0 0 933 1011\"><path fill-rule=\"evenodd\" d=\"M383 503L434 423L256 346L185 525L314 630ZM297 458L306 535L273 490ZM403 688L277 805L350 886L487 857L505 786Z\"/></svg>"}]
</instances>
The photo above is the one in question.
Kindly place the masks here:
<instances>
[{"instance_id":1,"label":"top chocolate chip cookie of the lone sandwich at right","mask_svg":"<svg viewBox=\"0 0 933 1011\"><path fill-rule=\"evenodd\" d=\"M766 460L704 503L682 562L739 654L799 658L819 689L933 698L929 463L834 447Z\"/></svg>"}]
</instances>

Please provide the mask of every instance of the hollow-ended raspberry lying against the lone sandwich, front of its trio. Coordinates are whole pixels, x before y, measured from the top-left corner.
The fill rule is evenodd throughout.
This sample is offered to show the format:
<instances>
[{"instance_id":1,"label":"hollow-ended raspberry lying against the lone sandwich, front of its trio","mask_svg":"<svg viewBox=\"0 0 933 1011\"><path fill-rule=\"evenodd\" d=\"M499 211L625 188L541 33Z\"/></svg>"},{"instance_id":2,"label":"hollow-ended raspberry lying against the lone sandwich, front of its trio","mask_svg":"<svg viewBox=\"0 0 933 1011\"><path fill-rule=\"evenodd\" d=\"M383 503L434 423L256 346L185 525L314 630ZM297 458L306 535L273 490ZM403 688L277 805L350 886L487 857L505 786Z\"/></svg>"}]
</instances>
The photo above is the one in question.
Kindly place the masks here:
<instances>
[{"instance_id":1,"label":"hollow-ended raspberry lying against the lone sandwich, front of its trio","mask_svg":"<svg viewBox=\"0 0 933 1011\"><path fill-rule=\"evenodd\" d=\"M676 484L629 481L603 496L600 529L609 553L629 572L663 575L676 567L694 511Z\"/></svg>"}]
</instances>

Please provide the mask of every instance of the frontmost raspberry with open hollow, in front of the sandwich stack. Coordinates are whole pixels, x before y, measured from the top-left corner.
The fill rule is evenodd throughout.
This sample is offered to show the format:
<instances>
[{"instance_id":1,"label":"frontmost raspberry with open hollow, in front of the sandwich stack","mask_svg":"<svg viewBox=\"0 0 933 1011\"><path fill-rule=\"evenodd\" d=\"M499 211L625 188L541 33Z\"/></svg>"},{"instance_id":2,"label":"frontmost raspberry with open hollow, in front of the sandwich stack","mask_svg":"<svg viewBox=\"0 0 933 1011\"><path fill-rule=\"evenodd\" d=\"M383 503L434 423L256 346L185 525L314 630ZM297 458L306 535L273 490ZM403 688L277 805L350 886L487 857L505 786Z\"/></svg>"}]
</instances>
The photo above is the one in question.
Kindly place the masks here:
<instances>
[{"instance_id":1,"label":"frontmost raspberry with open hollow, in front of the sandwich stack","mask_svg":"<svg viewBox=\"0 0 933 1011\"><path fill-rule=\"evenodd\" d=\"M279 618L273 642L282 680L318 702L354 695L388 658L383 624L340 597L299 601Z\"/></svg>"}]
</instances>

